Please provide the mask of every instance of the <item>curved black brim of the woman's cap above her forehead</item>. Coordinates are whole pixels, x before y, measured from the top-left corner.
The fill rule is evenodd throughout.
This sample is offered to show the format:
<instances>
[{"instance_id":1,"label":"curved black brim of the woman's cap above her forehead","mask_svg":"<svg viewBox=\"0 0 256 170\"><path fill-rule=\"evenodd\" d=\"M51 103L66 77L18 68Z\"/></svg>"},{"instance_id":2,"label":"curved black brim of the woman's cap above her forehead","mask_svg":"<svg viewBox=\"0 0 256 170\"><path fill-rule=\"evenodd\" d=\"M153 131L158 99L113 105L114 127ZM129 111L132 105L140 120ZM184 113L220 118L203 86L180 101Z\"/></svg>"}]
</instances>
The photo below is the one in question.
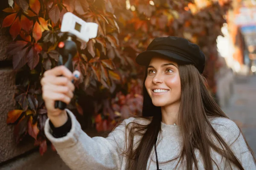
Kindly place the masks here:
<instances>
[{"instance_id":1,"label":"curved black brim of the woman's cap above her forehead","mask_svg":"<svg viewBox=\"0 0 256 170\"><path fill-rule=\"evenodd\" d=\"M139 65L147 66L152 57L166 57L167 59L172 59L173 61L177 62L178 64L191 63L191 61L189 59L186 59L185 57L182 57L179 54L176 54L172 51L167 51L167 50L148 50L148 51L144 51L136 57L135 61Z\"/></svg>"}]
</instances>

